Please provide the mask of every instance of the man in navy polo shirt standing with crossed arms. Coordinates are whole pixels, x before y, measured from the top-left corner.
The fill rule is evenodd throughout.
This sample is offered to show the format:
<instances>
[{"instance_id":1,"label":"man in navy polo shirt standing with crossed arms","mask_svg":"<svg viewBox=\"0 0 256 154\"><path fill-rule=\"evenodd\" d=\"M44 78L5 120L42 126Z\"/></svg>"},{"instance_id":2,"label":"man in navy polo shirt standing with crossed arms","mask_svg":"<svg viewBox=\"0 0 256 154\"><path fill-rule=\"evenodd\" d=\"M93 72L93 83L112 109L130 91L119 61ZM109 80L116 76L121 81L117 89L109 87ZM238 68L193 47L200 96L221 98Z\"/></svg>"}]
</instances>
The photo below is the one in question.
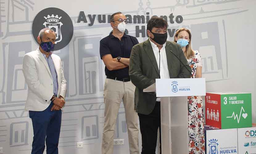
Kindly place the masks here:
<instances>
[{"instance_id":1,"label":"man in navy polo shirt standing with crossed arms","mask_svg":"<svg viewBox=\"0 0 256 154\"><path fill-rule=\"evenodd\" d=\"M113 32L100 41L100 56L105 63L107 79L104 85L105 121L102 136L102 154L113 154L114 131L121 101L129 137L130 154L138 154L138 115L134 110L135 86L129 77L131 49L138 40L124 33L127 23L125 15L111 15Z\"/></svg>"}]
</instances>

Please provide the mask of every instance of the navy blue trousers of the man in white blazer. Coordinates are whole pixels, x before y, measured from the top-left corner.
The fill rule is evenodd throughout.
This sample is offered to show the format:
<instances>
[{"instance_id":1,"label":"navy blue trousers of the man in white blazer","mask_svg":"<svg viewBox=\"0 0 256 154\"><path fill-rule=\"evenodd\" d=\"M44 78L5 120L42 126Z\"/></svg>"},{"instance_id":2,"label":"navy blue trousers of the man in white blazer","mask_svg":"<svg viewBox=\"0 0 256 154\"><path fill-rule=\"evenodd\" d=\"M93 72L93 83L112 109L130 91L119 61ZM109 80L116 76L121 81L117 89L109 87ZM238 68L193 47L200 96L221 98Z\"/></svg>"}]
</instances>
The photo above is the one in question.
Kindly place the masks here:
<instances>
[{"instance_id":1,"label":"navy blue trousers of the man in white blazer","mask_svg":"<svg viewBox=\"0 0 256 154\"><path fill-rule=\"evenodd\" d=\"M47 154L58 154L61 110L51 111L52 106L51 102L44 111L29 111L34 132L31 154L43 154L44 143Z\"/></svg>"}]
</instances>

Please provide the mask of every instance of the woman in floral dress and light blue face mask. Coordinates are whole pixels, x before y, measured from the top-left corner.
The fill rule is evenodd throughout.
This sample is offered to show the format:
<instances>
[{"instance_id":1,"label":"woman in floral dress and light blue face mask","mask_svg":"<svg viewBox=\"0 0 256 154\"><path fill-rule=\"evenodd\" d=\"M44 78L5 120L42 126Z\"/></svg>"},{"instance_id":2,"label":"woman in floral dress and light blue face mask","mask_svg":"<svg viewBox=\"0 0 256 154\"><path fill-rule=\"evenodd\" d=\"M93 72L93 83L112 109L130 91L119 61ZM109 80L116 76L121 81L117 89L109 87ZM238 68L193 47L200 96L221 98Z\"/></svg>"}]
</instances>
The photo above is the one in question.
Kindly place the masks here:
<instances>
[{"instance_id":1,"label":"woman in floral dress and light blue face mask","mask_svg":"<svg viewBox=\"0 0 256 154\"><path fill-rule=\"evenodd\" d=\"M192 69L192 78L202 77L201 55L191 49L191 33L181 28L175 33L174 41L178 43ZM188 136L189 154L204 154L204 116L201 96L188 96Z\"/></svg>"}]
</instances>

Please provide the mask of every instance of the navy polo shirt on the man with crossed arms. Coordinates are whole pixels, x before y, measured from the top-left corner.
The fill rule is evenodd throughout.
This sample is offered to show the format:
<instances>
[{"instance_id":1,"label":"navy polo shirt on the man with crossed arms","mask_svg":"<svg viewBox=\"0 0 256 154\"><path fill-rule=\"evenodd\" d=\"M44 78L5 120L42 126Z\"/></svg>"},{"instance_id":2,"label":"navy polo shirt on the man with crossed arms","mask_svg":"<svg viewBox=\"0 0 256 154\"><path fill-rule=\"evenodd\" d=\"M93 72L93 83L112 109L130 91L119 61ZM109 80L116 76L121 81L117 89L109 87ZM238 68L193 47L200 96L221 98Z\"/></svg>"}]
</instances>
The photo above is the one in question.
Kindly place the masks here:
<instances>
[{"instance_id":1,"label":"navy polo shirt on the man with crossed arms","mask_svg":"<svg viewBox=\"0 0 256 154\"><path fill-rule=\"evenodd\" d=\"M113 58L118 56L123 58L130 58L131 50L134 45L138 44L138 40L130 35L124 34L121 41L112 33L100 41L100 55L101 59L104 55L111 54ZM129 67L109 71L105 67L105 74L107 76L125 78L129 77Z\"/></svg>"}]
</instances>

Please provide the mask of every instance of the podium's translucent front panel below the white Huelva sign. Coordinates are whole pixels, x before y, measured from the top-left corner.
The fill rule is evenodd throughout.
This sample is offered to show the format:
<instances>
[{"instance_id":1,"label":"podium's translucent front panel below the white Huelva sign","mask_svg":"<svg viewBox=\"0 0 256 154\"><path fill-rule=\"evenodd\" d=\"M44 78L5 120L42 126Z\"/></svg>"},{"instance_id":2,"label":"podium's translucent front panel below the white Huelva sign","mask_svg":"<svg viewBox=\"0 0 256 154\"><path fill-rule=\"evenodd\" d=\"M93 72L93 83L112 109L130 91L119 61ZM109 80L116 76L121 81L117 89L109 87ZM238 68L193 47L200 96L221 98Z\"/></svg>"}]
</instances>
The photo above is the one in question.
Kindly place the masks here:
<instances>
[{"instance_id":1,"label":"podium's translucent front panel below the white Huelva sign","mask_svg":"<svg viewBox=\"0 0 256 154\"><path fill-rule=\"evenodd\" d=\"M161 98L162 154L188 153L188 97Z\"/></svg>"}]
</instances>

